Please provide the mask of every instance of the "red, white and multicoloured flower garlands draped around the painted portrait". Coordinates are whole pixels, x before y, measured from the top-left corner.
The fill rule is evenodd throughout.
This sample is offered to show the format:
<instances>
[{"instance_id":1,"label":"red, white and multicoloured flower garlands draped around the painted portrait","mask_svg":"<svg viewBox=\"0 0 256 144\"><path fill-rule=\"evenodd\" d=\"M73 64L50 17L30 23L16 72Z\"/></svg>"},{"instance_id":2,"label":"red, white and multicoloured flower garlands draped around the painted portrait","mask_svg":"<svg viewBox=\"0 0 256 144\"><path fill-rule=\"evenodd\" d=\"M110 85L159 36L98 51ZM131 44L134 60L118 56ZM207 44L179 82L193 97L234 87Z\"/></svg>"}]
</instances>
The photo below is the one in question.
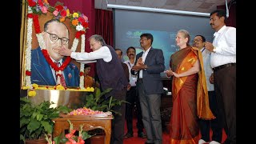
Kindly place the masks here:
<instances>
[{"instance_id":1,"label":"red, white and multicoloured flower garlands draped around the painted portrait","mask_svg":"<svg viewBox=\"0 0 256 144\"><path fill-rule=\"evenodd\" d=\"M62 71L68 66L71 61L70 57L67 57L66 60L62 63L62 66L58 67L51 59L50 55L46 50L46 45L42 37L42 32L40 30L40 25L38 22L38 14L46 14L47 11L53 12L55 18L58 18L60 22L64 22L65 18L70 18L70 22L72 26L75 26L77 32L75 34L74 42L72 43L71 49L72 51L77 50L78 38L82 38L81 42L81 51L85 51L85 33L86 29L89 28L88 18L84 14L74 13L70 14L70 11L66 8L66 6L62 6L58 4L55 7L51 7L46 0L38 1L37 0L27 0L28 2L28 21L27 21L27 38L26 38L26 85L23 86L23 89L31 89L34 90L35 87L31 84L30 76L31 76L31 47L32 47L32 25L34 23L35 34L38 38L38 44L41 47L42 54L46 58L46 61L49 65L57 71L57 85L61 85L60 76L62 75ZM84 64L80 65L80 84L79 88L81 90L85 90L84 88L84 76L81 75L81 72L84 71ZM48 89L48 87L45 87ZM41 87L41 90L43 88ZM54 88L56 89L56 87ZM62 88L61 88L62 89ZM64 90L70 90L65 88ZM88 90L88 89L86 89ZM91 91L91 90L88 90ZM35 94L32 94L35 95Z\"/></svg>"}]
</instances>

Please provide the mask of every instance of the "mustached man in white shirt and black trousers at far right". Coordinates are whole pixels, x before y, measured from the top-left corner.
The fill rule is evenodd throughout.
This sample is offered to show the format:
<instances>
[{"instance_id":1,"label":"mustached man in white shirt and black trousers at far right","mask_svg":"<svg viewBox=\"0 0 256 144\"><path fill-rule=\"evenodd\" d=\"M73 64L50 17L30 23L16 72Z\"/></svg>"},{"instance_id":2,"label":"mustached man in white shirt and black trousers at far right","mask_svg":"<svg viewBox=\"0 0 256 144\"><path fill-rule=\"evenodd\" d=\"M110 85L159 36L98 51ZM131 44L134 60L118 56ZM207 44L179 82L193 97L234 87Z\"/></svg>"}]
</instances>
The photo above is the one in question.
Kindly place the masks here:
<instances>
[{"instance_id":1,"label":"mustached man in white shirt and black trousers at far right","mask_svg":"<svg viewBox=\"0 0 256 144\"><path fill-rule=\"evenodd\" d=\"M211 52L210 66L214 70L214 89L222 124L226 130L225 144L236 143L236 28L226 26L226 12L210 13L210 26L215 30L214 42L206 42Z\"/></svg>"}]
</instances>

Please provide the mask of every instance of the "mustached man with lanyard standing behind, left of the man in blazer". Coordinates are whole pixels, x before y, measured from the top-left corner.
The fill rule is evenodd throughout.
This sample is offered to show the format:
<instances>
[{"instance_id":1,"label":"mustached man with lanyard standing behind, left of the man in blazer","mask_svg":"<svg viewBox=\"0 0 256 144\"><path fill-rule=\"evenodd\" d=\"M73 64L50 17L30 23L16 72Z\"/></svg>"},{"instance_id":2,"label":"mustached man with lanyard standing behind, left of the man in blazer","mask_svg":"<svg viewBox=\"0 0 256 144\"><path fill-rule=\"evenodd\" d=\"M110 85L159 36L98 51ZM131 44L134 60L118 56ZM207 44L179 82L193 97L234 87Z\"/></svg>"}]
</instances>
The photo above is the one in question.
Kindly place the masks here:
<instances>
[{"instance_id":1,"label":"mustached man with lanyard standing behind, left of the man in blazer","mask_svg":"<svg viewBox=\"0 0 256 144\"><path fill-rule=\"evenodd\" d=\"M138 137L146 138L146 135L143 133L143 122L142 122L142 110L139 104L138 91L136 89L137 75L131 74L130 70L134 66L136 50L133 46L128 47L126 50L127 57L129 58L126 62L126 65L129 68L129 83L130 90L126 94L126 125L127 133L124 135L124 138L130 138L134 136L133 131L133 114L134 108L136 107L136 116L137 116L137 128L138 128Z\"/></svg>"}]
</instances>

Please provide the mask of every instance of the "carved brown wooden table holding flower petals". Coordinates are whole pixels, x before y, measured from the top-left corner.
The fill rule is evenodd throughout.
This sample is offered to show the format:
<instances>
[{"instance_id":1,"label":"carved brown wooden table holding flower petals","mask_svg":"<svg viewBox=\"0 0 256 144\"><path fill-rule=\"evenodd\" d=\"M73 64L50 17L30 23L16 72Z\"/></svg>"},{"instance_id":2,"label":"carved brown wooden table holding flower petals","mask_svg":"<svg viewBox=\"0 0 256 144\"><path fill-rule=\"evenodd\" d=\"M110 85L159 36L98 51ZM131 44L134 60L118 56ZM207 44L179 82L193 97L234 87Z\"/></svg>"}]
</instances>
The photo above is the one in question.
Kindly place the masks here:
<instances>
[{"instance_id":1,"label":"carved brown wooden table holding flower petals","mask_svg":"<svg viewBox=\"0 0 256 144\"><path fill-rule=\"evenodd\" d=\"M105 131L105 144L110 144L111 137L111 120L113 119L111 115L103 114L91 114L91 115L66 115L63 114L62 118L54 118L54 137L59 134L65 134L65 130L70 129L70 124L67 120L73 123L74 130L79 130L80 125L83 126L83 130L94 130L102 129Z\"/></svg>"}]
</instances>

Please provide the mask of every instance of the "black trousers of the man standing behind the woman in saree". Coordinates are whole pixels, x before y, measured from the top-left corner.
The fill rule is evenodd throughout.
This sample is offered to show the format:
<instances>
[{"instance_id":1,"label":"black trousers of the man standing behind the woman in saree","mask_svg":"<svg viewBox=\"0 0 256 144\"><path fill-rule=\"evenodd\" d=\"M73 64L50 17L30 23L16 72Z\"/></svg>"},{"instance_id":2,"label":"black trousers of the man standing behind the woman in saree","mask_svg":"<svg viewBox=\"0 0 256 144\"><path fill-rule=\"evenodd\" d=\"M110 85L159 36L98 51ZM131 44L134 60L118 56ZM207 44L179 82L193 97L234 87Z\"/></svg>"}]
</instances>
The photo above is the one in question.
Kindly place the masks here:
<instances>
[{"instance_id":1,"label":"black trousers of the man standing behind the woman in saree","mask_svg":"<svg viewBox=\"0 0 256 144\"><path fill-rule=\"evenodd\" d=\"M215 119L203 120L199 119L199 126L202 138L206 142L210 142L210 128L213 130L212 141L222 142L222 121L218 112L217 99L214 91L208 91L210 110L213 112Z\"/></svg>"}]
</instances>

